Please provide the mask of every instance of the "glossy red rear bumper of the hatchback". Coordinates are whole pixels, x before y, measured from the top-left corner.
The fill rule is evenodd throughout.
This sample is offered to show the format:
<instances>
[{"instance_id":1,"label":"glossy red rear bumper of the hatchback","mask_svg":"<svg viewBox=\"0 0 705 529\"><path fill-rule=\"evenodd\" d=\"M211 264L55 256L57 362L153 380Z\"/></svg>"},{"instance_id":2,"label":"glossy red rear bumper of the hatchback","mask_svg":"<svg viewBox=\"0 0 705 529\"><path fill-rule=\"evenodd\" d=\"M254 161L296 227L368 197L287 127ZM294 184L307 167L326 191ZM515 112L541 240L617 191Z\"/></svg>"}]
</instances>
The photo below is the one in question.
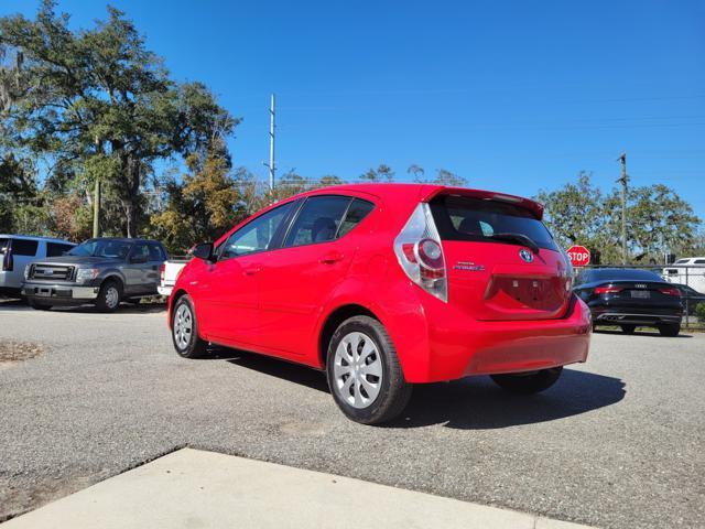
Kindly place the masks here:
<instances>
[{"instance_id":1,"label":"glossy red rear bumper of the hatchback","mask_svg":"<svg viewBox=\"0 0 705 529\"><path fill-rule=\"evenodd\" d=\"M585 361L592 335L587 305L573 298L562 319L540 321L473 321L429 310L427 357L403 358L410 382L454 380L471 375L496 375L546 369ZM429 307L426 307L429 309ZM404 364L409 365L408 370Z\"/></svg>"}]
</instances>

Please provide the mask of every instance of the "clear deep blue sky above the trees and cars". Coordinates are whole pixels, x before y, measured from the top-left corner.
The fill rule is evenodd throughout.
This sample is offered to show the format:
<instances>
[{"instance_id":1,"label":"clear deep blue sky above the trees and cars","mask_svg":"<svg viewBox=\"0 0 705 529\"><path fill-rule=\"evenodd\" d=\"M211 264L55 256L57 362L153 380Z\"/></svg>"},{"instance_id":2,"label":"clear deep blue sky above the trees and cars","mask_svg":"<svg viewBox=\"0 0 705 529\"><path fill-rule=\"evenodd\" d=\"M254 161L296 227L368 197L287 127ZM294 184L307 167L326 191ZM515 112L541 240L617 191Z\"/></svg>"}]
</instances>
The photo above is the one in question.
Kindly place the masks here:
<instances>
[{"instance_id":1,"label":"clear deep blue sky above the trees and cars","mask_svg":"<svg viewBox=\"0 0 705 529\"><path fill-rule=\"evenodd\" d=\"M234 161L264 177L268 105L278 165L355 179L416 163L468 185L533 195L628 153L705 218L705 2L113 0L176 79L235 116ZM36 1L0 14L33 17ZM76 26L105 3L62 0Z\"/></svg>"}]
</instances>

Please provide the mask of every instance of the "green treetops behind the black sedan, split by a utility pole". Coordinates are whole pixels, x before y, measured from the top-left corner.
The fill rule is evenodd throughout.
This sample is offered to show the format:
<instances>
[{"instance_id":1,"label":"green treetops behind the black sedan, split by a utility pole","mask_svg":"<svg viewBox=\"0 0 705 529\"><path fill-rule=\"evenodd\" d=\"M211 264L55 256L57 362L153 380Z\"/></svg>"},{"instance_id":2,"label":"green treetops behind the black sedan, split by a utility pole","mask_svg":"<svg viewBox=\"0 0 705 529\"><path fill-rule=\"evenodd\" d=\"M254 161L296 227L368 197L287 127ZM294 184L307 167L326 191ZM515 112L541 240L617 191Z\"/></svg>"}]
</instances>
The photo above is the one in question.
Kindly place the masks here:
<instances>
[{"instance_id":1,"label":"green treetops behind the black sedan, split by a utility pole","mask_svg":"<svg viewBox=\"0 0 705 529\"><path fill-rule=\"evenodd\" d=\"M541 191L545 223L562 246L584 245L599 263L621 262L621 192L605 195L592 174L578 173L577 182ZM629 262L661 262L665 251L690 255L697 244L699 219L691 205L662 184L633 187L627 196Z\"/></svg>"}]
</instances>

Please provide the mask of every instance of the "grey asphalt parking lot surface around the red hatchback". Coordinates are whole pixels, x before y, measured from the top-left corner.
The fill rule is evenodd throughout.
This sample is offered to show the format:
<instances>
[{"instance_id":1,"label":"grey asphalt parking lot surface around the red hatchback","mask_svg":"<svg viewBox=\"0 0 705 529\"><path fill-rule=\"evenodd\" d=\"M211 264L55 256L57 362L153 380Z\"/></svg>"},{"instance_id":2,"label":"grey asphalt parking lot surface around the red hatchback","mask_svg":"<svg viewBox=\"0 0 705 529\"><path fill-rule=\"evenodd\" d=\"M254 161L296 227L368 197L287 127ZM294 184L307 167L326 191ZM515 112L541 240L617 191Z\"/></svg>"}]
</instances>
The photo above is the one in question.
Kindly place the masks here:
<instances>
[{"instance_id":1,"label":"grey asphalt parking lot surface around the red hatchback","mask_svg":"<svg viewBox=\"0 0 705 529\"><path fill-rule=\"evenodd\" d=\"M163 307L0 302L0 520L182 446L601 527L705 527L705 335L597 333L545 393L487 378L416 388L384 428L346 420L322 374L218 349L185 360Z\"/></svg>"}]
</instances>

